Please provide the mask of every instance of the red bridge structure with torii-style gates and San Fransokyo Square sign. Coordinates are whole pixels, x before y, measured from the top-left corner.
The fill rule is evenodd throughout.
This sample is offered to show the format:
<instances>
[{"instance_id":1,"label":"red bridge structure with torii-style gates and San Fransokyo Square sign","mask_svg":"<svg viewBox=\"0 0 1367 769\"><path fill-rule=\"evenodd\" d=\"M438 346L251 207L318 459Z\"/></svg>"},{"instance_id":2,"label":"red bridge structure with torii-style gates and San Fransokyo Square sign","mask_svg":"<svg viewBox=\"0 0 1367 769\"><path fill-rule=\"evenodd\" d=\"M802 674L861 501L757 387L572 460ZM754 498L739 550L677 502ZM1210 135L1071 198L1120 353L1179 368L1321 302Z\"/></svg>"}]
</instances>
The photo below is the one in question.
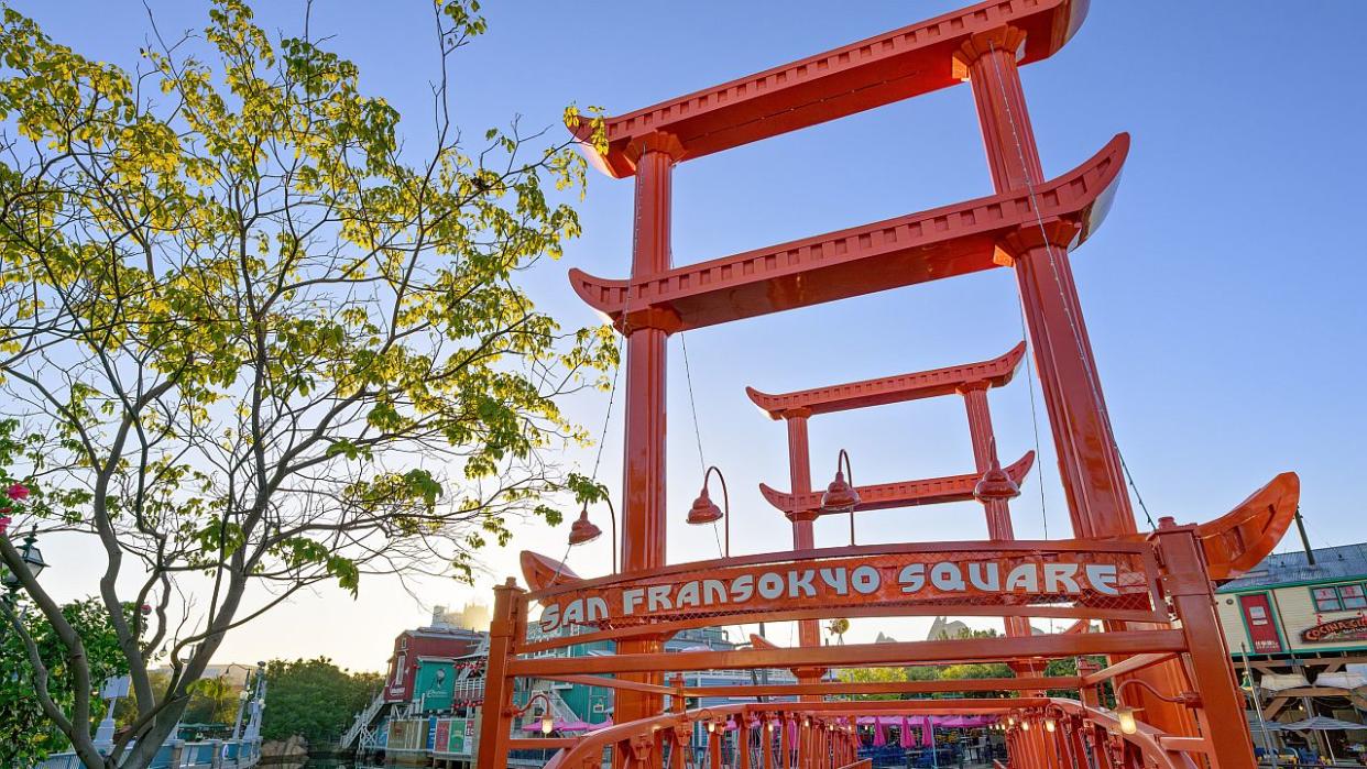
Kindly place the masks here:
<instances>
[{"instance_id":1,"label":"red bridge structure with torii-style gates and San Fransokyo Square sign","mask_svg":"<svg viewBox=\"0 0 1367 769\"><path fill-rule=\"evenodd\" d=\"M1003 732L1014 769L1255 765L1213 583L1271 550L1292 522L1299 481L1278 475L1200 525L1163 518L1148 533L1136 526L1070 266L1106 217L1129 137L1046 178L1020 79L1023 66L1064 48L1085 12L1083 0L990 0L645 109L574 120L570 128L589 160L636 184L630 276L570 272L574 291L625 336L622 565L581 578L554 559L524 553L525 587L510 579L496 589L481 769L502 769L510 751L529 749L558 750L548 764L555 768L599 766L604 754L614 766L684 766L699 755L689 746L699 724L707 725L703 755L714 768L850 766L858 718L931 714L987 717ZM673 265L671 173L679 163L964 83L973 93L991 194ZM987 391L1014 374L1027 352L1017 347L988 362L796 393L752 389L756 404L787 425L790 489L763 492L791 522L793 548L666 561L670 335L988 269L1010 269L1017 279L1070 538L1018 541L1012 530L1009 501L1033 455L999 466ZM865 486L838 473L826 493L812 489L811 417L956 393L968 414L972 471ZM705 490L693 522L722 515ZM858 511L971 499L987 515L984 541L860 545L853 538ZM828 514L850 515L849 545L812 541L812 520ZM585 512L571 542L597 533ZM1001 617L1007 632L819 643L823 619L940 615ZM1029 617L1074 624L1035 635ZM798 623L800 645L662 653L662 641L685 628L764 621ZM548 656L593 641L615 642L617 654ZM1089 665L1094 656L1107 661ZM1079 660L1076 673L1046 676L1054 660ZM1005 662L1013 675L887 683L822 676L831 668L956 662ZM798 682L718 688L673 677L715 668L789 668ZM577 738L514 736L522 714L514 686L532 680L614 690L615 724ZM871 694L901 699L860 699ZM688 708L692 698L716 695L753 702Z\"/></svg>"}]
</instances>

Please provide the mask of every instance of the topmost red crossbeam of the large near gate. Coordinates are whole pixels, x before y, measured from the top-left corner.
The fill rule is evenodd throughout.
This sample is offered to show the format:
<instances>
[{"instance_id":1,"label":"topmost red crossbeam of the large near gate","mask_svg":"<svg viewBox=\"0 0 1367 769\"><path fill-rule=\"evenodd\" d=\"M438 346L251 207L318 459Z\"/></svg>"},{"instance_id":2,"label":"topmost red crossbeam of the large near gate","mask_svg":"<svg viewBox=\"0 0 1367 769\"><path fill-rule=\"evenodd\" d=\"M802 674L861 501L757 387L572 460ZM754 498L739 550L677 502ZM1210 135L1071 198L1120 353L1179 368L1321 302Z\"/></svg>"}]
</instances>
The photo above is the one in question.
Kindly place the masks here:
<instances>
[{"instance_id":1,"label":"topmost red crossbeam of the large near gate","mask_svg":"<svg viewBox=\"0 0 1367 769\"><path fill-rule=\"evenodd\" d=\"M960 82L954 52L1003 26L1025 33L1020 63L1053 56L1087 16L1084 0L988 0L934 19L782 64L729 83L608 117L608 152L588 146L586 120L571 127L604 173L636 173L638 142L678 139L690 160L893 104Z\"/></svg>"}]
</instances>

